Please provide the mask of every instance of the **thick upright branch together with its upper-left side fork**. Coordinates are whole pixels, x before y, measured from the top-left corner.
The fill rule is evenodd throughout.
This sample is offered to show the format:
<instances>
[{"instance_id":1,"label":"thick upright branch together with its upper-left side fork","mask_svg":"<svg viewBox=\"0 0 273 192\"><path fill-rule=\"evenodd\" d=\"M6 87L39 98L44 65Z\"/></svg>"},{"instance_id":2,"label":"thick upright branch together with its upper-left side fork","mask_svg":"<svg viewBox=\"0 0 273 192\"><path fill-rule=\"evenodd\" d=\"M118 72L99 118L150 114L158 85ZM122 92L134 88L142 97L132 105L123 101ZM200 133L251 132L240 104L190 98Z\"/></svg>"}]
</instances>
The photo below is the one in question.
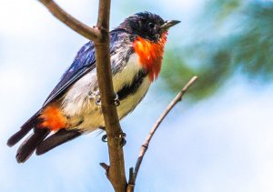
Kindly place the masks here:
<instances>
[{"instance_id":1,"label":"thick upright branch together with its upper-left side fork","mask_svg":"<svg viewBox=\"0 0 273 192\"><path fill-rule=\"evenodd\" d=\"M110 0L100 0L98 8L97 24L91 28L66 13L53 0L39 0L61 22L69 26L78 34L92 40L96 51L96 74L102 101L102 112L105 119L107 144L110 166L107 177L117 192L126 191L126 174L123 148L120 146L120 136L123 133L114 103L114 88L110 66L109 53L109 17ZM103 167L106 168L106 164Z\"/></svg>"}]
</instances>

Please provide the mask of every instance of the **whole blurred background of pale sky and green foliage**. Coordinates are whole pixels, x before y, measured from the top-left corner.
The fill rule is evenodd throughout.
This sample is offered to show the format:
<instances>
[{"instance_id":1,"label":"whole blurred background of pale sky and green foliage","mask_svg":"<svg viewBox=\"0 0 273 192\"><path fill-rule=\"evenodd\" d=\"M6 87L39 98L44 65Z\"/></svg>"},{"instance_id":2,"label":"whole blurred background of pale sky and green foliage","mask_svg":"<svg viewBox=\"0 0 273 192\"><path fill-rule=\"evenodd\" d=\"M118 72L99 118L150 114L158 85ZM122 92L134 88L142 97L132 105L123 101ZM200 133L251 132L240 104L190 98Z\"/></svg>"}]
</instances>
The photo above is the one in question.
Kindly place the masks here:
<instances>
[{"instance_id":1,"label":"whole blurred background of pale sky and green foliage","mask_svg":"<svg viewBox=\"0 0 273 192\"><path fill-rule=\"evenodd\" d=\"M42 106L86 39L38 1L0 0L0 191L112 191L91 134L25 164L5 143ZM87 25L97 0L58 0ZM126 132L126 171L157 117L193 76L183 102L159 127L136 191L273 191L273 1L113 0L111 28L139 11L181 20L169 31L164 66Z\"/></svg>"}]
</instances>

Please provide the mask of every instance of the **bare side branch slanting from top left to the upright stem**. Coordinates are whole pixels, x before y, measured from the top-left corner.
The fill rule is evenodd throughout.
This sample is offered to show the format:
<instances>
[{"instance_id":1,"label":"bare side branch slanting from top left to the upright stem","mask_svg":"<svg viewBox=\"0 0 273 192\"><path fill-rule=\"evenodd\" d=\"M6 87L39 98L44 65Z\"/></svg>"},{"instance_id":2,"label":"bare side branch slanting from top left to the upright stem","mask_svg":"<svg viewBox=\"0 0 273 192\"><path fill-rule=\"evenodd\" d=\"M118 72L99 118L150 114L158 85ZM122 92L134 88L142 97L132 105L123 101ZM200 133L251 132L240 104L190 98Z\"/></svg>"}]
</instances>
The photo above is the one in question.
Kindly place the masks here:
<instances>
[{"instance_id":1,"label":"bare side branch slanting from top left to the upright stem","mask_svg":"<svg viewBox=\"0 0 273 192\"><path fill-rule=\"evenodd\" d=\"M80 21L78 21L72 15L66 13L64 9L62 9L59 5L52 0L39 0L43 5L47 7L47 9L51 12L51 14L55 15L57 19L61 22L69 26L71 29L76 31L76 33L85 36L87 39L92 40L94 42L99 41L101 38L99 30L96 28L91 28Z\"/></svg>"}]
</instances>

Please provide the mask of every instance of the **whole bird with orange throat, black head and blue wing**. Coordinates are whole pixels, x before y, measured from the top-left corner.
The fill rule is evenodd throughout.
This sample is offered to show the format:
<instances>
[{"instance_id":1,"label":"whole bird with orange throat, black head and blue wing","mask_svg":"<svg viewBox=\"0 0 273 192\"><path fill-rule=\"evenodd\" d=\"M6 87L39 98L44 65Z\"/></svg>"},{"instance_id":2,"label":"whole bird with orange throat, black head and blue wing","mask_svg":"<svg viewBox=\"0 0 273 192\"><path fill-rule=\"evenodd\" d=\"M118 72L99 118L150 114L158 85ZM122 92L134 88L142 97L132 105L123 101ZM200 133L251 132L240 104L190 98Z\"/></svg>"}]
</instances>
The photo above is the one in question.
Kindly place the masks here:
<instances>
[{"instance_id":1,"label":"whole bird with orange throat, black head and blue wing","mask_svg":"<svg viewBox=\"0 0 273 192\"><path fill-rule=\"evenodd\" d=\"M162 66L168 29L180 21L150 12L128 16L109 32L110 65L119 120L146 96ZM96 78L95 45L83 45L44 105L7 141L18 147L16 161L43 155L78 136L105 129ZM32 133L29 133L32 132Z\"/></svg>"}]
</instances>

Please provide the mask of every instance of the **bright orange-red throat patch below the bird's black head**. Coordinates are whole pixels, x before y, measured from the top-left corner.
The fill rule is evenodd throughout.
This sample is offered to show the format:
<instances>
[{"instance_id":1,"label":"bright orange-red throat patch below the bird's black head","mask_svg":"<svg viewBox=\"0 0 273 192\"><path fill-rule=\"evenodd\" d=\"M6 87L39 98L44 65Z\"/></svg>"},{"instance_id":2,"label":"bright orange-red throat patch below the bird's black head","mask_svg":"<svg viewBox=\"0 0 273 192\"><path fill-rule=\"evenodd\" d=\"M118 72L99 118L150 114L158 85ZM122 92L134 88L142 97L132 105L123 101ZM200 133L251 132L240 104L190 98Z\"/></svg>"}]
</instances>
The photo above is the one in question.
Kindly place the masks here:
<instances>
[{"instance_id":1,"label":"bright orange-red throat patch below the bird's black head","mask_svg":"<svg viewBox=\"0 0 273 192\"><path fill-rule=\"evenodd\" d=\"M151 81L157 79L160 72L166 41L167 32L162 34L157 43L140 36L137 36L134 42L135 52L139 56L141 65L149 72L149 79Z\"/></svg>"}]
</instances>

